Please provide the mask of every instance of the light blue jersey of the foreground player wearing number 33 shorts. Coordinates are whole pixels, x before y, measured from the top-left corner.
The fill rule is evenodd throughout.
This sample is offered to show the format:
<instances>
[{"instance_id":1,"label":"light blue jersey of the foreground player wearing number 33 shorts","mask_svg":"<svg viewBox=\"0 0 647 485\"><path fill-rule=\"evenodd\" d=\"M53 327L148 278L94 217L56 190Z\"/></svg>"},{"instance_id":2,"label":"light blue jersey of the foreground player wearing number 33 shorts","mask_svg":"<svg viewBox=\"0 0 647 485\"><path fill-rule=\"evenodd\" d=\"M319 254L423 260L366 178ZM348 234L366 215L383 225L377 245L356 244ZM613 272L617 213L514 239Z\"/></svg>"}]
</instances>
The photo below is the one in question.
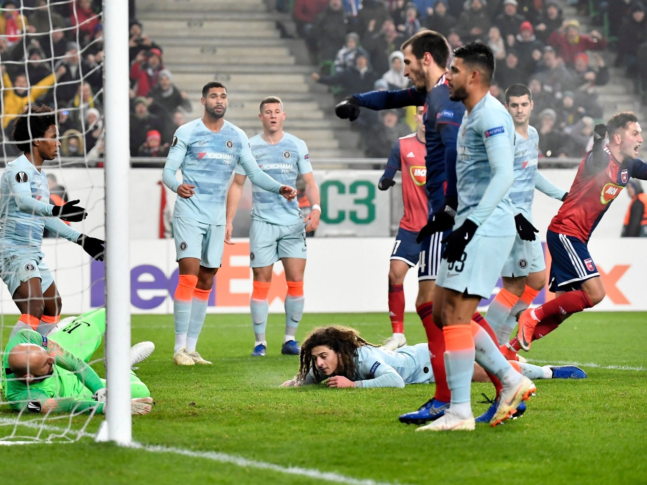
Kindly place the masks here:
<instances>
[{"instance_id":1,"label":"light blue jersey of the foreground player wearing number 33 shorts","mask_svg":"<svg viewBox=\"0 0 647 485\"><path fill-rule=\"evenodd\" d=\"M479 225L477 234L515 235L510 186L501 186L496 180L490 184L495 172L509 173L512 182L514 123L505 107L489 92L471 113L463 116L456 148L458 211L454 227L460 227L469 218Z\"/></svg>"}]
</instances>

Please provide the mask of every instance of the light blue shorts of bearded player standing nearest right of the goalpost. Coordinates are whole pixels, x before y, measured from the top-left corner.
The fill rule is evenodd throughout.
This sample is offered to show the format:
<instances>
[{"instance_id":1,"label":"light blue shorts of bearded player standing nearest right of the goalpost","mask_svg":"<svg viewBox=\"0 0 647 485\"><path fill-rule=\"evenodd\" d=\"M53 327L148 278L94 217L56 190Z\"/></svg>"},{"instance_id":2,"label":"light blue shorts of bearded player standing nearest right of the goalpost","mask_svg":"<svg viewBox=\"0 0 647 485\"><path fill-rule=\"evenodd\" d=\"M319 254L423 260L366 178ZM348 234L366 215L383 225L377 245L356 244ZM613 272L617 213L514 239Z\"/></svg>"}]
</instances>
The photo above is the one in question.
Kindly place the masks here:
<instances>
[{"instance_id":1,"label":"light blue shorts of bearded player standing nearest right of the goalpost","mask_svg":"<svg viewBox=\"0 0 647 485\"><path fill-rule=\"evenodd\" d=\"M186 217L173 217L175 261L195 257L205 268L220 268L225 248L225 226L212 226Z\"/></svg>"}]
</instances>

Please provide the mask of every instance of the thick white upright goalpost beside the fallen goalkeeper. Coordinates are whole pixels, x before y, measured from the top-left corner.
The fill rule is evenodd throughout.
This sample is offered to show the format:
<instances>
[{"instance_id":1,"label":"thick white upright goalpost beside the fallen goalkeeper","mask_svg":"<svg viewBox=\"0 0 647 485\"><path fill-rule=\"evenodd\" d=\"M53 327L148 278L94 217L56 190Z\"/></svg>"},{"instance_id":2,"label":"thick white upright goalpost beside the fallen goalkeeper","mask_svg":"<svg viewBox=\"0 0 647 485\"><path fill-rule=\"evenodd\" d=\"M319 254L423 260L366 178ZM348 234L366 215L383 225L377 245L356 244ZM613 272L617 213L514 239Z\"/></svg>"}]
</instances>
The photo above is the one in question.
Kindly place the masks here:
<instances>
[{"instance_id":1,"label":"thick white upright goalpost beside the fallen goalkeeper","mask_svg":"<svg viewBox=\"0 0 647 485\"><path fill-rule=\"evenodd\" d=\"M97 440L130 444L128 0L104 0L104 23L107 433Z\"/></svg>"}]
</instances>

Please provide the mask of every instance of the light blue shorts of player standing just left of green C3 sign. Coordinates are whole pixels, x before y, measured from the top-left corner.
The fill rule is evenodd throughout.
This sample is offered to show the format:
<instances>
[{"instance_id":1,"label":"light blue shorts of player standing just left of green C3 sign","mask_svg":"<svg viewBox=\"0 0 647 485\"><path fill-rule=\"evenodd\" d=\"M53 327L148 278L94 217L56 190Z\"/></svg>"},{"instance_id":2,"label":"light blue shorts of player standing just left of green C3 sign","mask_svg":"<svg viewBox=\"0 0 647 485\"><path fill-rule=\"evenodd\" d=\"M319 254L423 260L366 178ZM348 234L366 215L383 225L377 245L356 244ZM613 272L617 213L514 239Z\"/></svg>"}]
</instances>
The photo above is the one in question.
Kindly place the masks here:
<instances>
[{"instance_id":1,"label":"light blue shorts of player standing just left of green C3 sign","mask_svg":"<svg viewBox=\"0 0 647 485\"><path fill-rule=\"evenodd\" d=\"M252 219L252 227L249 230L250 267L264 268L283 257L306 259L303 223L278 226Z\"/></svg>"}]
</instances>

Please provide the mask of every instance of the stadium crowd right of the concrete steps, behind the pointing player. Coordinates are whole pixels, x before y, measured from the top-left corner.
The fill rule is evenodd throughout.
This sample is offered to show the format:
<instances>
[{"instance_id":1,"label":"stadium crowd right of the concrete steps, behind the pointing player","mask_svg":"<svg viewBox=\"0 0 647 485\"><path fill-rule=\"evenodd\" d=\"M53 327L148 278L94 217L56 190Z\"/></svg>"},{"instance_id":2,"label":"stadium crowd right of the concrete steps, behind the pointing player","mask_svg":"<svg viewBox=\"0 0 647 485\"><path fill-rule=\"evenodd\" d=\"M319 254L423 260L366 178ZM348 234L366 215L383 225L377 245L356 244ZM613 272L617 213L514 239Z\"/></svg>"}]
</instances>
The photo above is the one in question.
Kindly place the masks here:
<instances>
[{"instance_id":1,"label":"stadium crowd right of the concrete steps, behind the pointing player","mask_svg":"<svg viewBox=\"0 0 647 485\"><path fill-rule=\"evenodd\" d=\"M295 0L292 15L320 67L313 80L329 85L339 100L408 87L398 49L428 28L446 36L451 47L479 40L494 50L498 64L491 92L499 100L510 85L529 85L532 124L544 156L582 156L595 120L603 116L594 87L609 82L598 53L608 41L598 30L585 32L576 19L564 19L554 0ZM366 155L377 157L388 156L399 136L415 131L413 110L363 110L353 125Z\"/></svg>"}]
</instances>

